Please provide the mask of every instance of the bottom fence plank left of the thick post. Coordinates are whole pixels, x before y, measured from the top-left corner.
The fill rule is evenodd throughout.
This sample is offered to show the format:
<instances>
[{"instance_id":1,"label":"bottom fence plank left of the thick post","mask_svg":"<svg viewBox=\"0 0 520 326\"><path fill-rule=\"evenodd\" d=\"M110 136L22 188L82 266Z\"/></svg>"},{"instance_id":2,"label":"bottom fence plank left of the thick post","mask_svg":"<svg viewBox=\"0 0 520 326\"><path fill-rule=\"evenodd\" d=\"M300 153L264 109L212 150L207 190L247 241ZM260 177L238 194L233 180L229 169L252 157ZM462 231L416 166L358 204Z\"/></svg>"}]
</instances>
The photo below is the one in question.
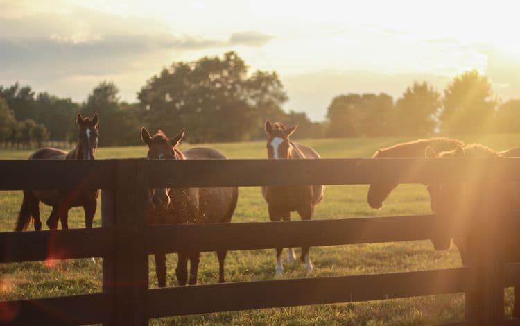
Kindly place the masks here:
<instances>
[{"instance_id":1,"label":"bottom fence plank left of the thick post","mask_svg":"<svg viewBox=\"0 0 520 326\"><path fill-rule=\"evenodd\" d=\"M0 325L78 325L110 320L102 293L0 302Z\"/></svg>"}]
</instances>

